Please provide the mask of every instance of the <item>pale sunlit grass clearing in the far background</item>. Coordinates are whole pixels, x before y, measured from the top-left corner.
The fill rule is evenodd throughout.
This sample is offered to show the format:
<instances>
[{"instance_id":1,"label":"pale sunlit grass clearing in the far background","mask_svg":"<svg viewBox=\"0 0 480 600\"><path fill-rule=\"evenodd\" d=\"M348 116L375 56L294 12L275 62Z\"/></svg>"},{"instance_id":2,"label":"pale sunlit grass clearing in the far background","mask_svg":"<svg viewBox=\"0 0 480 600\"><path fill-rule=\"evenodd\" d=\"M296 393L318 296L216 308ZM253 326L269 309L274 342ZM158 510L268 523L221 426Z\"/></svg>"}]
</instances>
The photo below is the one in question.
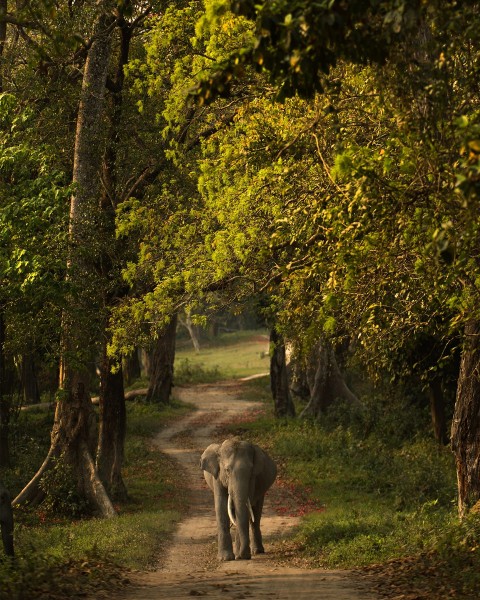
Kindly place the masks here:
<instances>
[{"instance_id":1,"label":"pale sunlit grass clearing in the far background","mask_svg":"<svg viewBox=\"0 0 480 600\"><path fill-rule=\"evenodd\" d=\"M224 333L200 352L180 348L175 356L175 381L179 384L248 377L269 370L266 330Z\"/></svg>"}]
</instances>

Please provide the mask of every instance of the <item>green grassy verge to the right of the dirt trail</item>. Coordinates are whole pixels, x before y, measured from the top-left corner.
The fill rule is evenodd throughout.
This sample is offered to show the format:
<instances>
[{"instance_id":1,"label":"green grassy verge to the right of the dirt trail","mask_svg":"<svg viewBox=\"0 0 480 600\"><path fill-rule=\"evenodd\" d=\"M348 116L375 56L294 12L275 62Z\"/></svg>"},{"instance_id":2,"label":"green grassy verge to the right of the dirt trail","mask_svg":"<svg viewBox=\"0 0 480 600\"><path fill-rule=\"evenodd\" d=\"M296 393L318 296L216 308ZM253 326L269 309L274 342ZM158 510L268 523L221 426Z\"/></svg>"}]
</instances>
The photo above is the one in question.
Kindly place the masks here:
<instances>
[{"instance_id":1,"label":"green grassy verge to the right of the dirt trail","mask_svg":"<svg viewBox=\"0 0 480 600\"><path fill-rule=\"evenodd\" d=\"M249 388L268 394L266 381ZM290 558L358 569L399 598L478 598L480 516L459 522L452 453L433 441L423 409L374 398L320 422L267 412L229 429L268 447L278 484L296 488L304 516Z\"/></svg>"}]
</instances>

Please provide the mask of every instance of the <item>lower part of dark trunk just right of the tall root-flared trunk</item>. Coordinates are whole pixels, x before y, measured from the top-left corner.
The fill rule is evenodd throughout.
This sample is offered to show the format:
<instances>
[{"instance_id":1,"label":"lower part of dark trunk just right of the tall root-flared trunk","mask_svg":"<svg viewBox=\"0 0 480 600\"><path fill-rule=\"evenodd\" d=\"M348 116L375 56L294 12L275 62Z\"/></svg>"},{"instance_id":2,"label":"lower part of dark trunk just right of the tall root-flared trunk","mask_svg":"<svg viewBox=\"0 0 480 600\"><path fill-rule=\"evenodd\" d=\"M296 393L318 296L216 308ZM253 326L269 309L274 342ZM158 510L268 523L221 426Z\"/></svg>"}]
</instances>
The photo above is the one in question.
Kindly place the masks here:
<instances>
[{"instance_id":1,"label":"lower part of dark trunk just right of the tall root-flared trunk","mask_svg":"<svg viewBox=\"0 0 480 600\"><path fill-rule=\"evenodd\" d=\"M122 478L127 424L125 392L122 368L112 373L112 366L105 347L100 366L100 425L96 465L110 496L115 500L126 500L127 488Z\"/></svg>"}]
</instances>

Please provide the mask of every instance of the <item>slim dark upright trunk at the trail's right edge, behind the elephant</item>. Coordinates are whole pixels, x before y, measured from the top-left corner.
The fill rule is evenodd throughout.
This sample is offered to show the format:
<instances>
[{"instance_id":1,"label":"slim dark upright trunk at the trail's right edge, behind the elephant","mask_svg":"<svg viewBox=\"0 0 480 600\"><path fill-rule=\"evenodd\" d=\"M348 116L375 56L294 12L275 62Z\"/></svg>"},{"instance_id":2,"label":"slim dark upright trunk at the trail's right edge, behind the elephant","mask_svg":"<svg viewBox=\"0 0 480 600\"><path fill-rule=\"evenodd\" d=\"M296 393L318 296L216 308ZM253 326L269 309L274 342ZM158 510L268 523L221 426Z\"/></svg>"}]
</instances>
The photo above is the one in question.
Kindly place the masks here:
<instances>
[{"instance_id":1,"label":"slim dark upright trunk at the trail's right edge, behind the elephant","mask_svg":"<svg viewBox=\"0 0 480 600\"><path fill-rule=\"evenodd\" d=\"M293 404L288 386L285 343L275 328L270 331L270 388L276 417L294 417Z\"/></svg>"}]
</instances>

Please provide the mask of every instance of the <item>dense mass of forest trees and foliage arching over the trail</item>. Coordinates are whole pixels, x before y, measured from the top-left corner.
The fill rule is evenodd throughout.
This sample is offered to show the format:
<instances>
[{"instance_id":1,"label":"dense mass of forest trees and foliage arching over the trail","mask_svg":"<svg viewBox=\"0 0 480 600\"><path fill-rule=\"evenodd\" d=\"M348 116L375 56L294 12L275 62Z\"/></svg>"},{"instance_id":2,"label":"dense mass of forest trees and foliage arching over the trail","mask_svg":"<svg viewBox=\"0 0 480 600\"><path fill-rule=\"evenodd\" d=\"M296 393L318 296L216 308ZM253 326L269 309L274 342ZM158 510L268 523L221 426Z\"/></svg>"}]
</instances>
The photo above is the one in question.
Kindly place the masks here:
<instances>
[{"instance_id":1,"label":"dense mass of forest trees and foliage arching over the trail","mask_svg":"<svg viewBox=\"0 0 480 600\"><path fill-rule=\"evenodd\" d=\"M473 1L0 0L1 472L19 405L56 406L16 506L61 462L115 515L140 349L167 405L177 331L261 326L277 419L394 390L479 510L479 24Z\"/></svg>"}]
</instances>

